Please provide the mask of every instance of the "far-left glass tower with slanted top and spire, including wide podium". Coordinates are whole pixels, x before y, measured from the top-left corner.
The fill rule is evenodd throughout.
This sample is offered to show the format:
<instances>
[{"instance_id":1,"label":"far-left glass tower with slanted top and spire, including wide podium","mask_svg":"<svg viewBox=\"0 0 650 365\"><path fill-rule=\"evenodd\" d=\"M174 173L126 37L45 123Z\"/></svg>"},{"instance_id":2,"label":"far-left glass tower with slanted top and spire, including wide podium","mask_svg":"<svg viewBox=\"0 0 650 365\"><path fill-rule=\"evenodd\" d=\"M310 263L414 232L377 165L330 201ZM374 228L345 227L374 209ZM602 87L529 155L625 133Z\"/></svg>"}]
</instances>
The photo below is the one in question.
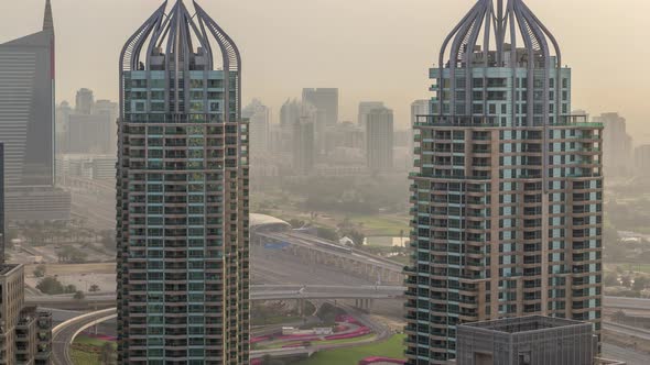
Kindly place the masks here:
<instances>
[{"instance_id":1,"label":"far-left glass tower with slanted top and spire, including wide podium","mask_svg":"<svg viewBox=\"0 0 650 365\"><path fill-rule=\"evenodd\" d=\"M54 187L54 21L0 44L0 142L9 221L69 219L69 193Z\"/></svg>"}]
</instances>

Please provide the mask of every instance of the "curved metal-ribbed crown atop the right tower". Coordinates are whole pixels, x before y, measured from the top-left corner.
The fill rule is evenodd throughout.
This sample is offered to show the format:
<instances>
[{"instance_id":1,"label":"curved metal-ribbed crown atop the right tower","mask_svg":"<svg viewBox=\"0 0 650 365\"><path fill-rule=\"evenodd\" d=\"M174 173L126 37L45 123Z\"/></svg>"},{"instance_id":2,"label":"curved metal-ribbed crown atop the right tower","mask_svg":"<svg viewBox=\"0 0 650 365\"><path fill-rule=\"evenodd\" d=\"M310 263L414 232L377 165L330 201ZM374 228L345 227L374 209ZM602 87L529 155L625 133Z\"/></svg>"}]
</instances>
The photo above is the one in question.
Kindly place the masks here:
<instances>
[{"instance_id":1,"label":"curved metal-ribbed crown atop the right tower","mask_svg":"<svg viewBox=\"0 0 650 365\"><path fill-rule=\"evenodd\" d=\"M445 38L440 65L546 68L561 65L555 37L523 0L478 0Z\"/></svg>"}]
</instances>

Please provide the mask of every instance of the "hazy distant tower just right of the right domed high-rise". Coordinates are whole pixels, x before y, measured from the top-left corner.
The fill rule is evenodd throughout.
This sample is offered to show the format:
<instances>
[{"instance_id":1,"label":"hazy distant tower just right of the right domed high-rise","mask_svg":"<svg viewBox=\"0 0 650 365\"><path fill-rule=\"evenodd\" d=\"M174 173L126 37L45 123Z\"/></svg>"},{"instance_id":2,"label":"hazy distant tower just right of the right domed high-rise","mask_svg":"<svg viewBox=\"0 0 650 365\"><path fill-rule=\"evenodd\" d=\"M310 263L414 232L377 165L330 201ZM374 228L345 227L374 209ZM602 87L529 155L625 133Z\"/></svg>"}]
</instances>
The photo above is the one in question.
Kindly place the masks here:
<instances>
[{"instance_id":1,"label":"hazy distant tower just right of the right domed high-rise","mask_svg":"<svg viewBox=\"0 0 650 365\"><path fill-rule=\"evenodd\" d=\"M627 132L625 118L618 113L603 113L594 117L595 123L603 123L605 132L603 135L603 167L608 177L627 177L633 167L632 137Z\"/></svg>"}]
</instances>

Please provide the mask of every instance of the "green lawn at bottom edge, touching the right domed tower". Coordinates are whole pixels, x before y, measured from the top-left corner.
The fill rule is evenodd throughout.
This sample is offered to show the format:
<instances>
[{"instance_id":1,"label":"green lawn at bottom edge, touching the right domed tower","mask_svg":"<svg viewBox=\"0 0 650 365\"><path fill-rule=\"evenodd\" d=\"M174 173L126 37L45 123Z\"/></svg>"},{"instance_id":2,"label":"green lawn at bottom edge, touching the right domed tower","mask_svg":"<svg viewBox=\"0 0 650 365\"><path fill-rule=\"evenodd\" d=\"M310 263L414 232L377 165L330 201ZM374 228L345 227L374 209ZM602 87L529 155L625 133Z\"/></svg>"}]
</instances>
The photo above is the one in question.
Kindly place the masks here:
<instances>
[{"instance_id":1,"label":"green lawn at bottom edge, touching the right domed tower","mask_svg":"<svg viewBox=\"0 0 650 365\"><path fill-rule=\"evenodd\" d=\"M386 342L358 347L323 351L296 365L357 365L360 360L369 356L404 358L403 334L396 334Z\"/></svg>"}]
</instances>

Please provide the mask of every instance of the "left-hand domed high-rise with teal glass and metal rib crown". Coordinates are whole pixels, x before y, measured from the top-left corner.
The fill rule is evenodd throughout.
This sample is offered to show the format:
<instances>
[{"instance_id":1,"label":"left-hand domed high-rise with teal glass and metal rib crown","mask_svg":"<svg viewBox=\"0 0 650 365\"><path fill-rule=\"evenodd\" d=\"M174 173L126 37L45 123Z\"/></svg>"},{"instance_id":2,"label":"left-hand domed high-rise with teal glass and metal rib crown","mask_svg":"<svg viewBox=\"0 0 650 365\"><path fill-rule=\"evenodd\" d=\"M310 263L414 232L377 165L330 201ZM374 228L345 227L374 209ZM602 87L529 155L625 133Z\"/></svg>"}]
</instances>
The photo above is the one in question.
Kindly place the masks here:
<instances>
[{"instance_id":1,"label":"left-hand domed high-rise with teal glass and metal rib crown","mask_svg":"<svg viewBox=\"0 0 650 365\"><path fill-rule=\"evenodd\" d=\"M196 2L166 1L120 56L120 364L249 364L241 58Z\"/></svg>"}]
</instances>

